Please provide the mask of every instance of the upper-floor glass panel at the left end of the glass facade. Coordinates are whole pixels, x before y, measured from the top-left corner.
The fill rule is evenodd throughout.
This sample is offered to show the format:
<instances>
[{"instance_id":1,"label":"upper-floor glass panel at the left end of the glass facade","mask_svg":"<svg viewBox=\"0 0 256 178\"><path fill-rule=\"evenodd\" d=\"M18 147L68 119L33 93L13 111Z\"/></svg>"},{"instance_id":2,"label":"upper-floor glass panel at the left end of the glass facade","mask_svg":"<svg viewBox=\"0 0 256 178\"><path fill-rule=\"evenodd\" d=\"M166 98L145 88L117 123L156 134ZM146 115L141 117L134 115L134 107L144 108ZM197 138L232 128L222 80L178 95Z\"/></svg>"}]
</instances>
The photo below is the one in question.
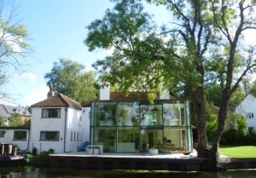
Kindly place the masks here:
<instances>
[{"instance_id":1,"label":"upper-floor glass panel at the left end of the glass facade","mask_svg":"<svg viewBox=\"0 0 256 178\"><path fill-rule=\"evenodd\" d=\"M116 125L116 102L96 103L96 126Z\"/></svg>"}]
</instances>

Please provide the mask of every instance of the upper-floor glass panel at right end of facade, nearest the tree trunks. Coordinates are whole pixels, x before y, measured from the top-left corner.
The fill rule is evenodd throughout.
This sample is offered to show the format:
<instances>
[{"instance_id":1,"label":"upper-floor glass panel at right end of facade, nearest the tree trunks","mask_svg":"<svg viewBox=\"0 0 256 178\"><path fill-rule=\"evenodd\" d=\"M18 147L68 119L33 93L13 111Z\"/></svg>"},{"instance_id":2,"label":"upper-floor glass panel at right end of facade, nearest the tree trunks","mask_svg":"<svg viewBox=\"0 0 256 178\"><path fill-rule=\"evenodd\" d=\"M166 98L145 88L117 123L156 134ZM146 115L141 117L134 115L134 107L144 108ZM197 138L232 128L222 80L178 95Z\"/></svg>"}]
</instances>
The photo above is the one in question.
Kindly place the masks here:
<instances>
[{"instance_id":1,"label":"upper-floor glass panel at right end of facade, nearest the tree trunks","mask_svg":"<svg viewBox=\"0 0 256 178\"><path fill-rule=\"evenodd\" d=\"M185 125L185 112L183 103L165 103L164 107L164 126Z\"/></svg>"}]
</instances>

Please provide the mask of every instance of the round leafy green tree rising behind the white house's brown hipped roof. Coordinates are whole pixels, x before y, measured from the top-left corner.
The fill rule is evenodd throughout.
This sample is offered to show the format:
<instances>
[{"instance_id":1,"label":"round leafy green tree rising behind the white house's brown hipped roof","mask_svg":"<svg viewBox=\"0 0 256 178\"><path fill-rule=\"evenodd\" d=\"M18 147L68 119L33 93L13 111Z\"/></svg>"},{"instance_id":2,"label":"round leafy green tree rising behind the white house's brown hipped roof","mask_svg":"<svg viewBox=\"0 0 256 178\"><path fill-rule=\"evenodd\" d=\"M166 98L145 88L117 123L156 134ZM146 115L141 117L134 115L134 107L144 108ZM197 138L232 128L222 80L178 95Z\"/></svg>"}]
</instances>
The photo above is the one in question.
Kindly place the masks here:
<instances>
[{"instance_id":1,"label":"round leafy green tree rising behind the white house's brown hipped roof","mask_svg":"<svg viewBox=\"0 0 256 178\"><path fill-rule=\"evenodd\" d=\"M73 100L85 102L96 98L96 74L85 72L78 62L60 59L54 62L51 71L44 75L47 84L54 85L55 92L67 95Z\"/></svg>"}]
</instances>

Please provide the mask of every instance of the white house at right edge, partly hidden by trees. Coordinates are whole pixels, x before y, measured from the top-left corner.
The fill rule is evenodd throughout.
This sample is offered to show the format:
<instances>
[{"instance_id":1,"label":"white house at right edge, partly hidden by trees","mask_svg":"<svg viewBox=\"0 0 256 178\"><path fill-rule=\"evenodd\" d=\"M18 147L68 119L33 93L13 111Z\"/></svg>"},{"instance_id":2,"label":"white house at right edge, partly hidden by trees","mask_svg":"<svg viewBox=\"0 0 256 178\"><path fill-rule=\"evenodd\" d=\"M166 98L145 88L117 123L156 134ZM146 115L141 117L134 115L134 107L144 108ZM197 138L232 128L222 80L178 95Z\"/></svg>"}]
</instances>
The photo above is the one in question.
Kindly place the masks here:
<instances>
[{"instance_id":1,"label":"white house at right edge, partly hidden by trees","mask_svg":"<svg viewBox=\"0 0 256 178\"><path fill-rule=\"evenodd\" d=\"M240 105L236 107L236 113L240 113L246 118L247 128L256 129L256 98L253 95L247 95Z\"/></svg>"}]
</instances>

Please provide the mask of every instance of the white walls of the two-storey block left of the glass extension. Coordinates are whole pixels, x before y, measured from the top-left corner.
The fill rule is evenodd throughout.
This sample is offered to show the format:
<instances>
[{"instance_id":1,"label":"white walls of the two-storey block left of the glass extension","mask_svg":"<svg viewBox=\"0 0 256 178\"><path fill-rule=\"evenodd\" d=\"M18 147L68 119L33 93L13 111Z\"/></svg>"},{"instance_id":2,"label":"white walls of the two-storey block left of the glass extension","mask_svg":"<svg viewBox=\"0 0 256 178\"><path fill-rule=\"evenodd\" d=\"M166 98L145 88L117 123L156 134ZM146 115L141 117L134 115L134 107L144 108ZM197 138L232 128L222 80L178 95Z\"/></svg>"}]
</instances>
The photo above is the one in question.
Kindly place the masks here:
<instances>
[{"instance_id":1,"label":"white walls of the two-storey block left of the glass extension","mask_svg":"<svg viewBox=\"0 0 256 178\"><path fill-rule=\"evenodd\" d=\"M61 109L60 118L42 118L42 109ZM31 136L29 151L76 152L82 145L81 111L70 107L32 107ZM59 133L55 141L42 141L42 132ZM40 138L41 137L41 138Z\"/></svg>"}]
</instances>

